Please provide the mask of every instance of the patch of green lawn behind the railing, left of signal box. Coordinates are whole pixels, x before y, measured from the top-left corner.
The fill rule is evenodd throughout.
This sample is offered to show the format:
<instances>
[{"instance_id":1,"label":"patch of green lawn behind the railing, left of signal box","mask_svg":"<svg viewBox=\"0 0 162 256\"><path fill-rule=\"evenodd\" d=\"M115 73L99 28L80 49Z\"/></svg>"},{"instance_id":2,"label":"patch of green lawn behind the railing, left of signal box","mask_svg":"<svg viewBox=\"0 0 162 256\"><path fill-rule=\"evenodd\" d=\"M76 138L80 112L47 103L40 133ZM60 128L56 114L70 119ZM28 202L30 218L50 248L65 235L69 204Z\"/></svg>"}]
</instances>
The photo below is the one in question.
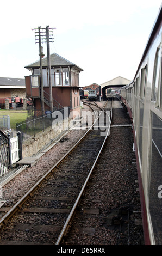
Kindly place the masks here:
<instances>
[{"instance_id":1,"label":"patch of green lawn behind the railing, left of signal box","mask_svg":"<svg viewBox=\"0 0 162 256\"><path fill-rule=\"evenodd\" d=\"M11 129L16 130L16 123L25 121L26 118L28 117L28 112L27 112L27 110L22 110L22 109L16 109L16 110L15 109L10 109L10 110L0 109L0 115L9 115Z\"/></svg>"}]
</instances>

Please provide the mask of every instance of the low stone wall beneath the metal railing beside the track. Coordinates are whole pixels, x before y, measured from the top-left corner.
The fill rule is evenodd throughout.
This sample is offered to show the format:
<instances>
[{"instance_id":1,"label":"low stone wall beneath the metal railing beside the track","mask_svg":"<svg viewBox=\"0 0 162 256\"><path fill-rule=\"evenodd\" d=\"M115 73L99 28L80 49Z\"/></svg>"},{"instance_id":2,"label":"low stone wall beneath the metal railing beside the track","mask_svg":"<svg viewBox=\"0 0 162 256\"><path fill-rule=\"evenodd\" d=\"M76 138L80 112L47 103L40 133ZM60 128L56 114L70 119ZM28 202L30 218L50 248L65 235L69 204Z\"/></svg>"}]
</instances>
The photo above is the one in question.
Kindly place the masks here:
<instances>
[{"instance_id":1,"label":"low stone wall beneath the metal railing beside the track","mask_svg":"<svg viewBox=\"0 0 162 256\"><path fill-rule=\"evenodd\" d=\"M39 132L35 137L31 137L22 144L22 157L32 156L42 149L51 140L61 134L61 132L69 130L73 126L73 120L66 118L60 121L52 128L49 127L45 131Z\"/></svg>"}]
</instances>

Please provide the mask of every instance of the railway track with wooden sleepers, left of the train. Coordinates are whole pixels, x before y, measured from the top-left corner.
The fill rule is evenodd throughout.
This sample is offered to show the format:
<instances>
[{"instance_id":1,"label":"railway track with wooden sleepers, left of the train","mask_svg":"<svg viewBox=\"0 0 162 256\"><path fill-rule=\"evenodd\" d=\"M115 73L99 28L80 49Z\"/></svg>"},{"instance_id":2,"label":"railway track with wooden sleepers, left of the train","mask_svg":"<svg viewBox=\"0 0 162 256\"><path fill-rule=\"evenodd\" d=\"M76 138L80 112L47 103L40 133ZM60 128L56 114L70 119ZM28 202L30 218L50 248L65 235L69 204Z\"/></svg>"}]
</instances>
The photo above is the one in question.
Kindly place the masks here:
<instances>
[{"instance_id":1,"label":"railway track with wooden sleepers, left of the train","mask_svg":"<svg viewBox=\"0 0 162 256\"><path fill-rule=\"evenodd\" d=\"M0 245L59 245L63 241L109 134L110 121L109 127L105 121L110 117L103 109L95 114L95 123L47 174L13 208L1 208L8 212L0 221Z\"/></svg>"}]
</instances>

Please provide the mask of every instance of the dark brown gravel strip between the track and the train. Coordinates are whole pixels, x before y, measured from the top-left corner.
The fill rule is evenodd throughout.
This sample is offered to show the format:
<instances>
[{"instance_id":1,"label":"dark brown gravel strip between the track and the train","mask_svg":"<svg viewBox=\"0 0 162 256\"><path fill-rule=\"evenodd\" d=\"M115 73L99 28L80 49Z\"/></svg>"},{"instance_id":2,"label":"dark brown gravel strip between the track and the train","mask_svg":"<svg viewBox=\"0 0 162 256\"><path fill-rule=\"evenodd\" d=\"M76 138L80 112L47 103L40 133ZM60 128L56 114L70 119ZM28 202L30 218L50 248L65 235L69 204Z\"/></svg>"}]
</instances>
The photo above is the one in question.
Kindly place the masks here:
<instances>
[{"instance_id":1,"label":"dark brown gravel strip between the track and the train","mask_svg":"<svg viewBox=\"0 0 162 256\"><path fill-rule=\"evenodd\" d=\"M62 245L142 243L142 228L136 224L141 212L130 143L132 127L127 112L115 100L111 135Z\"/></svg>"}]
</instances>

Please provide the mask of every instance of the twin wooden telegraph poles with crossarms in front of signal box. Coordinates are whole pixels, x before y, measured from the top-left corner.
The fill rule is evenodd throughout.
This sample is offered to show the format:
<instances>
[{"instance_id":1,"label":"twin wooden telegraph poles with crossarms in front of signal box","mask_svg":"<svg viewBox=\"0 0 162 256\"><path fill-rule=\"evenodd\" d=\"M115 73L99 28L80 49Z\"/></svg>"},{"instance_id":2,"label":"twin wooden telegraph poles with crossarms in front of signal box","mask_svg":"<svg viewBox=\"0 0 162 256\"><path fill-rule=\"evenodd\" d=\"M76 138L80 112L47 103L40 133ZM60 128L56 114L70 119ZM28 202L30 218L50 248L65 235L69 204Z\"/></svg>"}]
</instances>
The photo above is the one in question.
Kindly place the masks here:
<instances>
[{"instance_id":1,"label":"twin wooden telegraph poles with crossarms in front of signal box","mask_svg":"<svg viewBox=\"0 0 162 256\"><path fill-rule=\"evenodd\" d=\"M38 33L39 35L35 35L35 43L39 43L39 55L40 55L40 74L41 74L41 101L42 101L42 112L45 112L45 103L44 103L44 89L43 89L43 74L42 74L42 51L41 51L41 43L45 42L47 43L47 62L48 62L48 81L49 81L49 106L50 111L53 112L53 97L52 97L52 83L51 83L51 60L50 60L50 50L49 50L49 42L53 38L49 38L49 36L53 36L53 34L49 34L53 31L49 31L49 29L55 29L55 28L49 28L47 26L46 28L41 28L38 26L38 28L32 28L32 30L35 30L35 34ZM36 32L38 30L38 32ZM38 37L38 38L36 38ZM36 41L38 40L38 41ZM43 41L44 40L44 41Z\"/></svg>"}]
</instances>

